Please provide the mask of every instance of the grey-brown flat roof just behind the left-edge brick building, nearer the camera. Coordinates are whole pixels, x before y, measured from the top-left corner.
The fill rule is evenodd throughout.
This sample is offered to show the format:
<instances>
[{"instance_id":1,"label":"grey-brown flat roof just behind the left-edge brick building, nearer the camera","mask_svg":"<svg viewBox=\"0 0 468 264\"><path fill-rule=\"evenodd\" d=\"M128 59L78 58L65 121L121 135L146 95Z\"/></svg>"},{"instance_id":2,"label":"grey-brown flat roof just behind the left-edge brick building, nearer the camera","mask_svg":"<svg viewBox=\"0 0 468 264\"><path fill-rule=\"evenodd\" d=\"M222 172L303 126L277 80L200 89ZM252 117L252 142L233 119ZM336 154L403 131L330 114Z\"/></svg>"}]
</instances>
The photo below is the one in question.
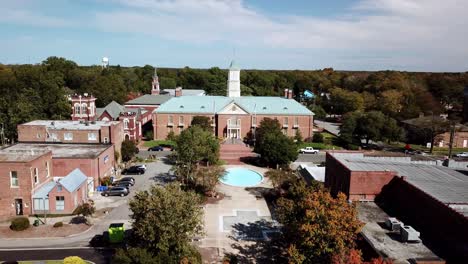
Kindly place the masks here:
<instances>
[{"instance_id":1,"label":"grey-brown flat roof just behind the left-edge brick building, nearer the camera","mask_svg":"<svg viewBox=\"0 0 468 264\"><path fill-rule=\"evenodd\" d=\"M103 151L112 145L100 144L43 144L43 143L17 143L3 151L15 152L18 150L52 151L52 158L97 158Z\"/></svg>"}]
</instances>

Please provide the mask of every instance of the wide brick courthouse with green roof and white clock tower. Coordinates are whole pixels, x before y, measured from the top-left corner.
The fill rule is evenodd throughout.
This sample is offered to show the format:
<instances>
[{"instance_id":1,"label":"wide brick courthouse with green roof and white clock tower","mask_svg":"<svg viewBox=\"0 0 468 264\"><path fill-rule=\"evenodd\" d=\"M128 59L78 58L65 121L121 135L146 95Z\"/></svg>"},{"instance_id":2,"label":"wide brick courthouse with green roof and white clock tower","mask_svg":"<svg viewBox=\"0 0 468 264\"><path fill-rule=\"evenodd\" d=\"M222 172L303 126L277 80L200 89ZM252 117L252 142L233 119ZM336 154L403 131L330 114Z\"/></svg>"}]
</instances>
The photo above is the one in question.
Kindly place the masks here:
<instances>
[{"instance_id":1,"label":"wide brick courthouse with green roof and white clock tower","mask_svg":"<svg viewBox=\"0 0 468 264\"><path fill-rule=\"evenodd\" d=\"M306 139L312 137L313 113L285 96L240 96L240 69L231 63L227 96L176 96L153 112L154 138L164 139L170 132L176 135L190 126L194 116L212 120L213 132L219 138L243 139L254 132L264 118L278 119L283 133L294 136L300 131Z\"/></svg>"}]
</instances>

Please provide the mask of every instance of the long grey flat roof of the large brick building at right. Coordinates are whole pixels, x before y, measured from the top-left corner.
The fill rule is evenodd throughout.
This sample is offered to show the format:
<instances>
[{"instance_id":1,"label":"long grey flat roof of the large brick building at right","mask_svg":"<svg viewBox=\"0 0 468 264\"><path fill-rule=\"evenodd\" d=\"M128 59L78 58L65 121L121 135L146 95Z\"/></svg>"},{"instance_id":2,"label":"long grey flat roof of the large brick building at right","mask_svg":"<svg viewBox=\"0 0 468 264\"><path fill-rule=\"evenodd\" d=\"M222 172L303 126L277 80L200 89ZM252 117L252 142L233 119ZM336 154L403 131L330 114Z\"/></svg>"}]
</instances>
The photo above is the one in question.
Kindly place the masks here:
<instances>
[{"instance_id":1,"label":"long grey flat roof of the large brick building at right","mask_svg":"<svg viewBox=\"0 0 468 264\"><path fill-rule=\"evenodd\" d=\"M412 161L409 157L365 157L363 153L329 154L351 171L394 171L444 204L468 206L468 176L457 170L430 165L431 162ZM461 209L459 212L466 211ZM468 217L468 214L464 215Z\"/></svg>"}]
</instances>

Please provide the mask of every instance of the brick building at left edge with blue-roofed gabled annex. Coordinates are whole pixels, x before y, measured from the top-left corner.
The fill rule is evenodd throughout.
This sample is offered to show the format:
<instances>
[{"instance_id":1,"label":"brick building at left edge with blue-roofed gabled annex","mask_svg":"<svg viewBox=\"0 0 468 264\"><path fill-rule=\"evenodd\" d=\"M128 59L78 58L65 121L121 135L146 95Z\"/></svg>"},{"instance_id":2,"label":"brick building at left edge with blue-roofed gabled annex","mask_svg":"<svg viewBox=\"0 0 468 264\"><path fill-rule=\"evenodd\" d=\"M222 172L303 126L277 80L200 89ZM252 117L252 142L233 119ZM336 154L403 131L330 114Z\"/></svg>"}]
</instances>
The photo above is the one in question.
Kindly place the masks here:
<instances>
[{"instance_id":1,"label":"brick building at left edge with blue-roofed gabled annex","mask_svg":"<svg viewBox=\"0 0 468 264\"><path fill-rule=\"evenodd\" d=\"M71 213L88 199L79 170L54 177L50 150L0 150L0 220L44 212Z\"/></svg>"}]
</instances>

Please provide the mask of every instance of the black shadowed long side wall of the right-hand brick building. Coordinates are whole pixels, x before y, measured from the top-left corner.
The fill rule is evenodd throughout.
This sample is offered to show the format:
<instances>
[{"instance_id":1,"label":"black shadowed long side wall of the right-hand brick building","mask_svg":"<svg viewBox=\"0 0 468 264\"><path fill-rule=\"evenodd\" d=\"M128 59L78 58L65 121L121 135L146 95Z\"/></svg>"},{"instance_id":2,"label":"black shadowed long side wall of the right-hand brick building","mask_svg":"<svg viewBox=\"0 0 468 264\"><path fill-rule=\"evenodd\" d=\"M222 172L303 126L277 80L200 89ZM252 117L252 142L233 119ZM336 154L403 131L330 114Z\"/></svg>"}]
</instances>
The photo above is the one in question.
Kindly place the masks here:
<instances>
[{"instance_id":1,"label":"black shadowed long side wall of the right-hand brick building","mask_svg":"<svg viewBox=\"0 0 468 264\"><path fill-rule=\"evenodd\" d=\"M431 249L437 249L436 253L448 263L466 263L467 217L400 177L393 178L377 200L405 225L411 225L421 232L425 244L430 245Z\"/></svg>"}]
</instances>

